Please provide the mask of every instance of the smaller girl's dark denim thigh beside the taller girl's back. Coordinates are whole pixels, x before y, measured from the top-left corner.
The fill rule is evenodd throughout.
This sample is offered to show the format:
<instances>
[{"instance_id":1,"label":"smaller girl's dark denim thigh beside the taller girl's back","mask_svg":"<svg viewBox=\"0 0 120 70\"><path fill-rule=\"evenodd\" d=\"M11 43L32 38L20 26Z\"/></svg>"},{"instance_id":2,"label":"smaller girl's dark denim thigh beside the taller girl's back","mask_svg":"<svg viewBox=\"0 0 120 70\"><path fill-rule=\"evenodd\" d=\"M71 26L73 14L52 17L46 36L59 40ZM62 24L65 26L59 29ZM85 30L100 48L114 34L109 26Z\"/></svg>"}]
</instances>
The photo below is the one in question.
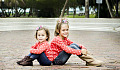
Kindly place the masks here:
<instances>
[{"instance_id":1,"label":"smaller girl's dark denim thigh beside the taller girl's back","mask_svg":"<svg viewBox=\"0 0 120 70\"><path fill-rule=\"evenodd\" d=\"M52 63L52 61L50 61L47 58L47 56L45 55L44 52L39 55L39 58L37 60L38 60L39 64L43 65L43 66L50 66Z\"/></svg>"}]
</instances>

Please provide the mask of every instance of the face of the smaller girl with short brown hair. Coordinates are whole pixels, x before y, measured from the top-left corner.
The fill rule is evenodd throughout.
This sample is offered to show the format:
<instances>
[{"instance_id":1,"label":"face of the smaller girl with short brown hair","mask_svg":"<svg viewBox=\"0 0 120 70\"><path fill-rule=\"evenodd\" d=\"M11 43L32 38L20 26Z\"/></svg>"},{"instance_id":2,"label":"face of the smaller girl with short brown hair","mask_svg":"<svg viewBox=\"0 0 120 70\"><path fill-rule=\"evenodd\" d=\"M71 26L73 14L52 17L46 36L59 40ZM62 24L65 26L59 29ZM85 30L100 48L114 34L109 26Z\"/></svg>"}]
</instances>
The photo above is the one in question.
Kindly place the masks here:
<instances>
[{"instance_id":1,"label":"face of the smaller girl with short brown hair","mask_svg":"<svg viewBox=\"0 0 120 70\"><path fill-rule=\"evenodd\" d=\"M47 38L48 38L48 37L47 37L47 35L46 35L45 30L39 30L39 31L37 32L37 40L38 40L40 43L45 42Z\"/></svg>"}]
</instances>

